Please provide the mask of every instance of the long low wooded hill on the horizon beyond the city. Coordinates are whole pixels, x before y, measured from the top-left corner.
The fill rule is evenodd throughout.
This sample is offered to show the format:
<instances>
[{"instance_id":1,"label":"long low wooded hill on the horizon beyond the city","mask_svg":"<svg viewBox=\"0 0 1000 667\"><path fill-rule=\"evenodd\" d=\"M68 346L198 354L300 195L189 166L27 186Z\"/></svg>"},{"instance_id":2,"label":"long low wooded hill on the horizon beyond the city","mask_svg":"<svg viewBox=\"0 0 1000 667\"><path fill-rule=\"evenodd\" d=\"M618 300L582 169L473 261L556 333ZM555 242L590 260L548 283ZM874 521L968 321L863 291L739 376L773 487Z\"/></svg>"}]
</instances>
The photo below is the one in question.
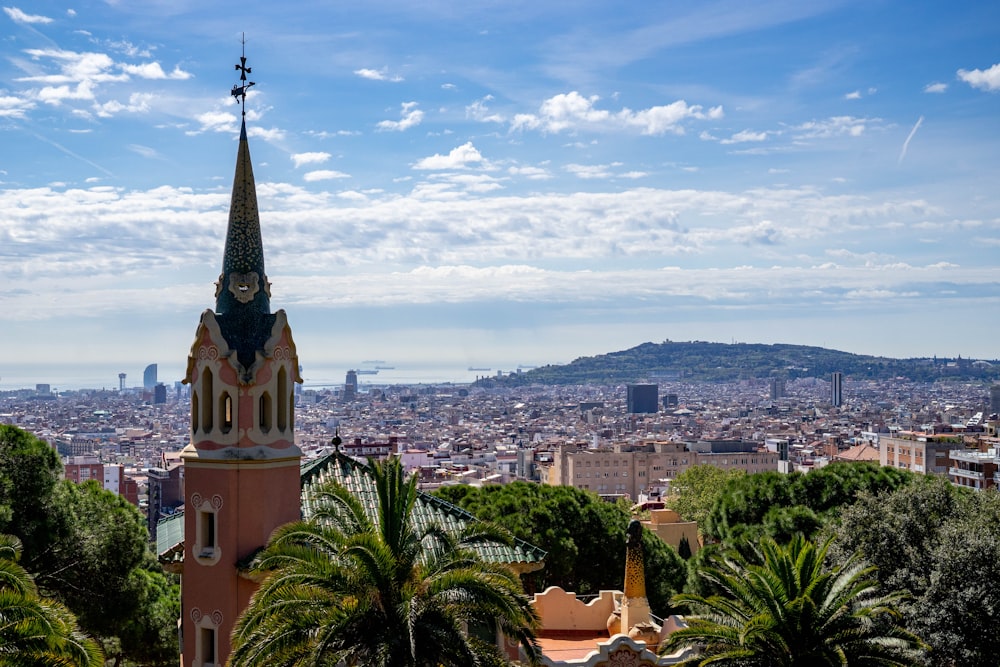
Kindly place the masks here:
<instances>
[{"instance_id":1,"label":"long low wooded hill on the horizon beyond the city","mask_svg":"<svg viewBox=\"0 0 1000 667\"><path fill-rule=\"evenodd\" d=\"M622 384L643 381L731 382L782 376L845 377L915 382L1000 379L1000 361L972 359L892 359L807 345L754 343L643 343L621 352L580 357L569 364L539 366L499 380L523 384ZM497 381L491 378L487 381Z\"/></svg>"}]
</instances>

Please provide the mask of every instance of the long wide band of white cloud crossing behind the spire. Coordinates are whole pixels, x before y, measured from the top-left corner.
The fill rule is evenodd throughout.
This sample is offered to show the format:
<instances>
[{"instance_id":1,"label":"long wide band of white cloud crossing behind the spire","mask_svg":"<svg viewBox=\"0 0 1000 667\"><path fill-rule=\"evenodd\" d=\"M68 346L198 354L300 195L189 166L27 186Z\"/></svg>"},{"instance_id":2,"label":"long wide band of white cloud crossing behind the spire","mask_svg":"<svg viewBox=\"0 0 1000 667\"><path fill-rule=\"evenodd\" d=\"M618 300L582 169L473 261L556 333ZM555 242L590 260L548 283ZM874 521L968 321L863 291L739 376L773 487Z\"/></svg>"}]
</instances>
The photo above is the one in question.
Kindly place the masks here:
<instances>
[{"instance_id":1,"label":"long wide band of white cloud crossing behind the spire","mask_svg":"<svg viewBox=\"0 0 1000 667\"><path fill-rule=\"evenodd\" d=\"M269 276L282 306L299 313L310 305L358 304L633 308L641 299L647 306L661 303L674 317L685 308L753 304L762 311L769 304L836 310L845 293L862 290L876 302L879 291L921 292L929 303L942 283L977 295L995 284L993 266L970 265L964 247L942 255L949 252L943 245L925 261L892 254L919 222L940 223L937 233L945 235L957 228L951 211L918 200L781 188L466 196L500 187L480 173L441 175L404 196L258 183L262 218L272 230L265 231ZM227 203L225 188L0 189L0 300L11 325L197 313L211 298ZM330 233L331 208L336 234ZM889 221L901 226L890 228ZM1000 229L1000 220L987 224ZM892 250L821 250L854 249L860 234L866 247ZM303 247L310 252L303 254ZM671 263L683 268L665 268ZM170 282L179 275L186 282ZM45 298L51 294L61 297ZM190 331L183 334L180 347L189 342Z\"/></svg>"}]
</instances>

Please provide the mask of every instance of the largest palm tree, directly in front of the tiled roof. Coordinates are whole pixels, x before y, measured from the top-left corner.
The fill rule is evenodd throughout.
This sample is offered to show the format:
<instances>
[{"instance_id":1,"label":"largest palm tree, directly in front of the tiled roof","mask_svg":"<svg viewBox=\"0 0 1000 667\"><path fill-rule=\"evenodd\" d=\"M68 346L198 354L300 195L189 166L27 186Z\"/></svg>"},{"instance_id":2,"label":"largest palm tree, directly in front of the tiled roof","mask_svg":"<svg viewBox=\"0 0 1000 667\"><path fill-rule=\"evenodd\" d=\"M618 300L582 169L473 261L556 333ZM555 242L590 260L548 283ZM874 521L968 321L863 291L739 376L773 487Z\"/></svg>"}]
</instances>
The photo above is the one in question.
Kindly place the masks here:
<instances>
[{"instance_id":1,"label":"largest palm tree, directly in front of the tiled roof","mask_svg":"<svg viewBox=\"0 0 1000 667\"><path fill-rule=\"evenodd\" d=\"M231 665L504 664L495 640L477 636L483 628L517 639L536 662L537 616L519 579L468 548L500 540L496 529L418 530L416 479L398 460L369 467L377 520L326 485L310 520L280 528L257 558L267 577L233 632Z\"/></svg>"}]
</instances>

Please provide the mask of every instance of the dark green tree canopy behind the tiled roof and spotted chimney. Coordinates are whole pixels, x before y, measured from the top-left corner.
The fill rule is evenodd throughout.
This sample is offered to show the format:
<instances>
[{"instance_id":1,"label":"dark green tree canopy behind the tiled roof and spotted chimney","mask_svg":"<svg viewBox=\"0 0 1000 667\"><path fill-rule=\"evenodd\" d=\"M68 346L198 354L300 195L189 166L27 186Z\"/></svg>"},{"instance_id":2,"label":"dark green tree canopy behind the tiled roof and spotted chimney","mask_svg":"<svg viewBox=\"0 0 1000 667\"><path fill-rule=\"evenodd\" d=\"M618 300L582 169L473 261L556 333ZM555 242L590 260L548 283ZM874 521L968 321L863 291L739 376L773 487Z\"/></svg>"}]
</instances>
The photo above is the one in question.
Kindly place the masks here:
<instances>
[{"instance_id":1,"label":"dark green tree canopy behind the tiled roof and spotted chimney","mask_svg":"<svg viewBox=\"0 0 1000 667\"><path fill-rule=\"evenodd\" d=\"M435 493L545 549L545 568L526 575L534 590L559 586L586 595L624 585L625 530L631 517L621 505L573 487L528 482L448 486ZM672 547L649 531L643 531L642 539L646 595L654 613L665 616L671 596L684 586L686 567Z\"/></svg>"}]
</instances>

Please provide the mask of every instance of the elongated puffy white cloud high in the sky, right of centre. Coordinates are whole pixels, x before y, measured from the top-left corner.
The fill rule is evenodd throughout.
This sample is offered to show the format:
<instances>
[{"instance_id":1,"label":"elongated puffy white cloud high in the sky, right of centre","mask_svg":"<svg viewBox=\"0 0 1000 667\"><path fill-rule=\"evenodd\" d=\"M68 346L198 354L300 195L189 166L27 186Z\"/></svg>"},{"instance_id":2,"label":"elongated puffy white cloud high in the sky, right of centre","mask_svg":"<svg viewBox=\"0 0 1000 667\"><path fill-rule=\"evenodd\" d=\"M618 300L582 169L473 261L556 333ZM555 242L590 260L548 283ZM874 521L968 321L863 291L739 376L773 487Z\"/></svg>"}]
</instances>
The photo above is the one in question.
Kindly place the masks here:
<instances>
[{"instance_id":1,"label":"elongated puffy white cloud high in the sky, right of centre","mask_svg":"<svg viewBox=\"0 0 1000 667\"><path fill-rule=\"evenodd\" d=\"M517 114L511 123L512 131L540 130L558 133L564 130L621 130L638 129L641 134L659 135L666 132L683 134L683 122L688 119L718 119L722 107L707 112L698 105L688 105L678 100L663 106L632 111L625 107L611 112L598 109L597 95L584 97L577 91L561 93L542 102L537 114Z\"/></svg>"}]
</instances>

